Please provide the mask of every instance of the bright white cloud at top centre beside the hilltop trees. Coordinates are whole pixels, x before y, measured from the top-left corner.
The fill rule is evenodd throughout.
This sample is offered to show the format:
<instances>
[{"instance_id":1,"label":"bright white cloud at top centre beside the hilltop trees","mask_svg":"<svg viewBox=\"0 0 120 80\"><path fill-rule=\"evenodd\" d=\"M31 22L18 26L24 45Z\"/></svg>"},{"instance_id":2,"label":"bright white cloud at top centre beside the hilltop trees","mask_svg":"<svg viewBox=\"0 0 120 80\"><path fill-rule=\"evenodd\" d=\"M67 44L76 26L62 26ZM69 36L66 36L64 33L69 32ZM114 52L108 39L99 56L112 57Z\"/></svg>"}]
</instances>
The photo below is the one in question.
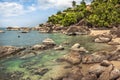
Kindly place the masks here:
<instances>
[{"instance_id":1,"label":"bright white cloud at top centre beside the hilltop trees","mask_svg":"<svg viewBox=\"0 0 120 80\"><path fill-rule=\"evenodd\" d=\"M38 5L41 9L56 8L64 9L72 6L73 0L38 0ZM80 3L81 0L75 0Z\"/></svg>"}]
</instances>

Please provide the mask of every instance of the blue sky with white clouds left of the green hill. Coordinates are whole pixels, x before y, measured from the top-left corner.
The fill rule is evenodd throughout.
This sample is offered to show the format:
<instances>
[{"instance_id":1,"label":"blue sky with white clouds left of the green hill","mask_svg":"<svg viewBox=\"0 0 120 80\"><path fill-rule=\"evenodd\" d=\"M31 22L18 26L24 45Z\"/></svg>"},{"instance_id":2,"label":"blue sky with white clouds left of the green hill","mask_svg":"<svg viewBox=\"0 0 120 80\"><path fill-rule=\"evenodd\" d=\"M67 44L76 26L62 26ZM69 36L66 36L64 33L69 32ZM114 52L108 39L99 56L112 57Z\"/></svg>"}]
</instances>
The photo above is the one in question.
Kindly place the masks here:
<instances>
[{"instance_id":1,"label":"blue sky with white clouds left of the green hill","mask_svg":"<svg viewBox=\"0 0 120 80\"><path fill-rule=\"evenodd\" d=\"M71 7L73 0L0 0L0 27L34 27L57 11ZM74 0L77 4L81 0ZM88 0L89 2L89 0Z\"/></svg>"}]
</instances>

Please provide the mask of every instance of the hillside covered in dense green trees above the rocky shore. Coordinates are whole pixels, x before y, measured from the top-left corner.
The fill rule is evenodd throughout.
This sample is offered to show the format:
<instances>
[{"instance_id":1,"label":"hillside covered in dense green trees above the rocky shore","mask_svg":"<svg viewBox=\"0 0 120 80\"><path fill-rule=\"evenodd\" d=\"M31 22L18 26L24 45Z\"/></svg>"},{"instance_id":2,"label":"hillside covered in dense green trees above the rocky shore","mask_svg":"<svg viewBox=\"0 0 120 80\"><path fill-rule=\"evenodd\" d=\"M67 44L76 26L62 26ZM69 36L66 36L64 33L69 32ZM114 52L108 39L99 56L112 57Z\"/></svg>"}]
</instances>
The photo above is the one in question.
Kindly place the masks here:
<instances>
[{"instance_id":1,"label":"hillside covered in dense green trees above the rocky shore","mask_svg":"<svg viewBox=\"0 0 120 80\"><path fill-rule=\"evenodd\" d=\"M48 22L70 26L84 22L84 25L92 27L113 27L120 25L120 0L93 0L87 5L84 0L72 8L58 11L56 15L48 18Z\"/></svg>"}]
</instances>

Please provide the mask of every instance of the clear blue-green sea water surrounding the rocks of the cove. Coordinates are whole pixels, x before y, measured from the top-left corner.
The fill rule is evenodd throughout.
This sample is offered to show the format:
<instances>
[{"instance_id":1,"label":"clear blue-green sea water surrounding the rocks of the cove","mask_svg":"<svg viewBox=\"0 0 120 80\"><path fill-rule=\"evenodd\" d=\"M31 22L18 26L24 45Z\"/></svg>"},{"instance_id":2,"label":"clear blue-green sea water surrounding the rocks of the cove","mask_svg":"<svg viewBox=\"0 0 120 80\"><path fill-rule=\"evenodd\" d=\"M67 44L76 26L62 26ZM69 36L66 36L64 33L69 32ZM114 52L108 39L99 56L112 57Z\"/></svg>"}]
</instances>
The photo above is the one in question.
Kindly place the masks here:
<instances>
[{"instance_id":1,"label":"clear blue-green sea water surrounding the rocks of the cove","mask_svg":"<svg viewBox=\"0 0 120 80\"><path fill-rule=\"evenodd\" d=\"M21 37L18 38L18 35ZM0 60L0 80L9 80L8 73L13 73L16 71L23 73L23 77L18 80L24 80L28 77L31 80L40 80L43 76L33 74L31 71L35 68L48 68L51 70L54 66L60 65L59 63L55 62L55 60L64 54L67 54L70 47L74 43L80 43L81 46L85 47L91 53L110 48L110 46L106 44L94 43L93 38L89 36L66 36L60 33L46 34L38 33L37 31L31 31L30 33L26 34L18 31L6 31L5 33L0 33L0 45L31 46L41 43L45 38L52 38L57 45L64 42L68 42L70 44L65 47L65 50L63 51L55 51L51 49L40 51L38 52L39 55L26 59L21 59L20 57L14 56L9 59Z\"/></svg>"}]
</instances>

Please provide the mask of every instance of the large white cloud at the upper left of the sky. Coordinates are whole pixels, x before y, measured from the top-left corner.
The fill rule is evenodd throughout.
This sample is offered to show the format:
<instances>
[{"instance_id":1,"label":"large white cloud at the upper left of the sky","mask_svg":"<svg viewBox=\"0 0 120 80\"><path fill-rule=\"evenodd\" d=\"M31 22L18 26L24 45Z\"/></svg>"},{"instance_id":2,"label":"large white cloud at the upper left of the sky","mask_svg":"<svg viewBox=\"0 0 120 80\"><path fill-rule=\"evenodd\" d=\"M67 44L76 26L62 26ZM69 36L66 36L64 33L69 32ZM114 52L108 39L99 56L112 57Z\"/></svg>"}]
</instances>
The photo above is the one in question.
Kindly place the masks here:
<instances>
[{"instance_id":1,"label":"large white cloud at the upper left of the sky","mask_svg":"<svg viewBox=\"0 0 120 80\"><path fill-rule=\"evenodd\" d=\"M5 17L18 16L35 10L34 6L28 6L25 9L23 5L15 2L0 2L0 15Z\"/></svg>"}]
</instances>

